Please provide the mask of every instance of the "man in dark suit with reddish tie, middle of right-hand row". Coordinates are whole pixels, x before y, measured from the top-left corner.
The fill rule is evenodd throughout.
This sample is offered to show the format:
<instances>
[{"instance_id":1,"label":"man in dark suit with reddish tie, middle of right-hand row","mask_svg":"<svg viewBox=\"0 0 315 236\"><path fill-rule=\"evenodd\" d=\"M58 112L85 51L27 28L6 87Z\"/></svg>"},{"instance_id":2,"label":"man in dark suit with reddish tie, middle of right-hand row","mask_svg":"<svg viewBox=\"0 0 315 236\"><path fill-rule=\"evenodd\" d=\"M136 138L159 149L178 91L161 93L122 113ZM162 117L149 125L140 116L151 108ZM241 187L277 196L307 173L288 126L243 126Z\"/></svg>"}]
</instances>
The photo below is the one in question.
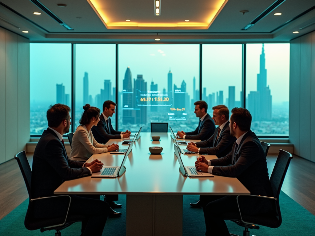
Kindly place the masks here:
<instances>
[{"instance_id":1,"label":"man in dark suit with reddish tie, middle of right-hand row","mask_svg":"<svg viewBox=\"0 0 315 236\"><path fill-rule=\"evenodd\" d=\"M200 154L216 155L218 158L226 156L232 150L232 146L236 138L230 133L230 111L225 105L217 105L212 107L212 119L218 127L214 134L206 141L197 143L188 143L187 149L191 152ZM199 200L197 203L191 203L192 207L202 207Z\"/></svg>"}]
</instances>

